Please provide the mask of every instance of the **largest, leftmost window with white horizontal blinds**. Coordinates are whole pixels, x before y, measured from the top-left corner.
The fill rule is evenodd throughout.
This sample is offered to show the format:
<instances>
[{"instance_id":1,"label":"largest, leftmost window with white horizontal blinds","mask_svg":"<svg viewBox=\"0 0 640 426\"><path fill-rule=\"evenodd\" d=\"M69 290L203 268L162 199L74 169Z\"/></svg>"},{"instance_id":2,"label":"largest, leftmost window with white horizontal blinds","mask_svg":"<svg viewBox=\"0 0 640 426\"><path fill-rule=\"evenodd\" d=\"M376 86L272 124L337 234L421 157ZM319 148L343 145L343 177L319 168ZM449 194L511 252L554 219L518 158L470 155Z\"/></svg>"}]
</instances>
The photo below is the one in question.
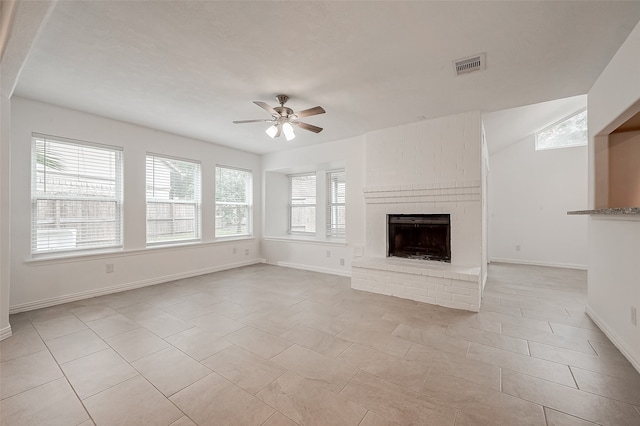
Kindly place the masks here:
<instances>
[{"instance_id":1,"label":"largest, leftmost window with white horizontal blinds","mask_svg":"<svg viewBox=\"0 0 640 426\"><path fill-rule=\"evenodd\" d=\"M31 253L122 247L122 149L34 134Z\"/></svg>"}]
</instances>

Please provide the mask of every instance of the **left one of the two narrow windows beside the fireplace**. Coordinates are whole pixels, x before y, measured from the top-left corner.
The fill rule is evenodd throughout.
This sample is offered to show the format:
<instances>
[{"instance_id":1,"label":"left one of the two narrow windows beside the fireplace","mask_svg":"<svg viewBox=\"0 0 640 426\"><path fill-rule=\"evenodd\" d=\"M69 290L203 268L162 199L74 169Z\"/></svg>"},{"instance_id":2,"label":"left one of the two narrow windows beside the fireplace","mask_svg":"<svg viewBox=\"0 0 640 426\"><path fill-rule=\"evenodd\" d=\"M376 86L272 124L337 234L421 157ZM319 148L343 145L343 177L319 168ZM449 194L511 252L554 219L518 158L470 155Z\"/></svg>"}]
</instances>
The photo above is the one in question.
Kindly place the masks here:
<instances>
[{"instance_id":1,"label":"left one of the two narrow windows beside the fireplace","mask_svg":"<svg viewBox=\"0 0 640 426\"><path fill-rule=\"evenodd\" d=\"M289 232L316 232L316 174L289 175Z\"/></svg>"}]
</instances>

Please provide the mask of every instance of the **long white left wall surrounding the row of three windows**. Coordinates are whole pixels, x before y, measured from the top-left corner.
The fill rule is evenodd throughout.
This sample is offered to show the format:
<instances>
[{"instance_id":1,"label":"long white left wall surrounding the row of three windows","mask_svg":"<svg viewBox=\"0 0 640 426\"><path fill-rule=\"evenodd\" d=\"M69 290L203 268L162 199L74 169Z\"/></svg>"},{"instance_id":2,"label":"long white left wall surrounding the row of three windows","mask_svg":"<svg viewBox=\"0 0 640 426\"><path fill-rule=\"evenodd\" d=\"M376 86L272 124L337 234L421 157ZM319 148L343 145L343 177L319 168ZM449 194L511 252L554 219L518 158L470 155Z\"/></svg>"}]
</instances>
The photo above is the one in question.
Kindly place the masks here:
<instances>
[{"instance_id":1,"label":"long white left wall surrounding the row of three windows","mask_svg":"<svg viewBox=\"0 0 640 426\"><path fill-rule=\"evenodd\" d=\"M214 239L214 170L217 164L253 170L254 235L261 234L260 157L87 113L14 98L11 102L11 295L12 311L88 297L255 263L257 238ZM121 146L124 149L124 249L63 259L30 255L32 132ZM202 164L202 243L146 249L145 156L147 152ZM236 253L233 253L236 248ZM245 251L249 250L246 255ZM115 271L107 274L107 263Z\"/></svg>"}]
</instances>

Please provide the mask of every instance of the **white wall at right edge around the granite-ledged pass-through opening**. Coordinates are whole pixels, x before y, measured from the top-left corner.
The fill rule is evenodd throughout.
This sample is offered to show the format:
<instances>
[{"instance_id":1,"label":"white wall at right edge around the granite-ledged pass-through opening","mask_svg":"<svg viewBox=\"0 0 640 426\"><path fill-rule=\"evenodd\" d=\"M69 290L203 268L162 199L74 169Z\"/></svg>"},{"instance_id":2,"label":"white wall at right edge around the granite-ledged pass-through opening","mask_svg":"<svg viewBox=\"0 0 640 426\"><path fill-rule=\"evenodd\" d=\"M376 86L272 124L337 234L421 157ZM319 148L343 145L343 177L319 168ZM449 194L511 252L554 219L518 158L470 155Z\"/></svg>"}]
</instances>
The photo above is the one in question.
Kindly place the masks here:
<instances>
[{"instance_id":1,"label":"white wall at right edge around the granite-ledged pass-through opening","mask_svg":"<svg viewBox=\"0 0 640 426\"><path fill-rule=\"evenodd\" d=\"M594 138L611 132L640 110L640 23L589 91L589 204L594 204ZM628 118L628 117L626 117ZM629 217L628 219L631 219ZM640 371L640 217L589 219L587 312Z\"/></svg>"}]
</instances>

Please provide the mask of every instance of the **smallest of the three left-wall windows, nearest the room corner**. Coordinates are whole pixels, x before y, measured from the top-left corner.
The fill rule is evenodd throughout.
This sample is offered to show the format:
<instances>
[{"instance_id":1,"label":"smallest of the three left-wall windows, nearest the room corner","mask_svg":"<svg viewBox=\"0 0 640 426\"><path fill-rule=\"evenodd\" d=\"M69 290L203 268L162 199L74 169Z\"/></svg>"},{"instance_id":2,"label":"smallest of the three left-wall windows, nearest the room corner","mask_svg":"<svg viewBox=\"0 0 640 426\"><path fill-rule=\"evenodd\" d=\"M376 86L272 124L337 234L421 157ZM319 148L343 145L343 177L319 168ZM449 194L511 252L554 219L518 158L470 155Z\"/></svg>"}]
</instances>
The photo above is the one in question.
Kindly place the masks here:
<instances>
[{"instance_id":1,"label":"smallest of the three left-wall windows, nearest the room corner","mask_svg":"<svg viewBox=\"0 0 640 426\"><path fill-rule=\"evenodd\" d=\"M216 167L216 237L251 234L251 181L248 170Z\"/></svg>"}]
</instances>

